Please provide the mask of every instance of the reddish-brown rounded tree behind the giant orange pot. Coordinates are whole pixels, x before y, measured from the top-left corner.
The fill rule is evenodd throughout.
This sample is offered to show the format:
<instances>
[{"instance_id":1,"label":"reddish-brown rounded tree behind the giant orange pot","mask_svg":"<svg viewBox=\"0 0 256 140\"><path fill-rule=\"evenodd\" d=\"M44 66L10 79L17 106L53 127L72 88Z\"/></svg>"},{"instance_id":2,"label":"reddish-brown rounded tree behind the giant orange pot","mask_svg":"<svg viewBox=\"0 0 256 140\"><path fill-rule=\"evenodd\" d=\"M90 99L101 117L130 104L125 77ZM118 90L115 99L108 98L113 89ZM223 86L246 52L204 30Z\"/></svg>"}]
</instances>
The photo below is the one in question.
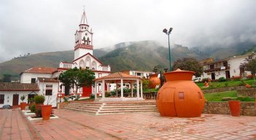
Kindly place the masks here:
<instances>
[{"instance_id":1,"label":"reddish-brown rounded tree behind the giant orange pot","mask_svg":"<svg viewBox=\"0 0 256 140\"><path fill-rule=\"evenodd\" d=\"M183 58L174 62L173 70L182 69L185 71L195 71L195 77L201 77L203 66L195 58Z\"/></svg>"}]
</instances>

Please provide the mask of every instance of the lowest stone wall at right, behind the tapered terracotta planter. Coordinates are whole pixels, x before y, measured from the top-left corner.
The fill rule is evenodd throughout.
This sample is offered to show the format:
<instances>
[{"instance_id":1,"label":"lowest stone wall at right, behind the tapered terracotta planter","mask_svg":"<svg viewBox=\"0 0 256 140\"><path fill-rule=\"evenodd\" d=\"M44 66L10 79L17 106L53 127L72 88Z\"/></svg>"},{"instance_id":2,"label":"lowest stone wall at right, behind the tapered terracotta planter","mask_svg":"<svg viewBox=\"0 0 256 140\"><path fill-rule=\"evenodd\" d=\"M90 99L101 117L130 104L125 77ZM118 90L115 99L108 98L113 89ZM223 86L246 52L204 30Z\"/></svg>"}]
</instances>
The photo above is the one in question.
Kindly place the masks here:
<instances>
[{"instance_id":1,"label":"lowest stone wall at right, behind the tapered terracotta planter","mask_svg":"<svg viewBox=\"0 0 256 140\"><path fill-rule=\"evenodd\" d=\"M204 104L203 113L206 114L230 114L228 102L206 102ZM255 102L241 102L241 115L245 116L256 116Z\"/></svg>"}]
</instances>

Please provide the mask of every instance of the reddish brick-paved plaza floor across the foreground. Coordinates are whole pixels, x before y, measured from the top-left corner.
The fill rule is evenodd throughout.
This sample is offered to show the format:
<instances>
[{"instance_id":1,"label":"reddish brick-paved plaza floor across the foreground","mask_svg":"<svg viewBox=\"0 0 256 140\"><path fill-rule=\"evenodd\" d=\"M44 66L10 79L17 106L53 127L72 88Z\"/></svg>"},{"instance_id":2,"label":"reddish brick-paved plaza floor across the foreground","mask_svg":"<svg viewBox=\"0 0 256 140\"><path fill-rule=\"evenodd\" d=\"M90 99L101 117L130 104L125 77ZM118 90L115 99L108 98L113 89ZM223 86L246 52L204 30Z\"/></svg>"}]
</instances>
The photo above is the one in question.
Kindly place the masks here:
<instances>
[{"instance_id":1,"label":"reddish brick-paved plaza floor across the foreground","mask_svg":"<svg viewBox=\"0 0 256 140\"><path fill-rule=\"evenodd\" d=\"M55 109L53 120L28 121L19 109L0 110L0 139L256 139L256 117L157 112L95 116Z\"/></svg>"}]
</instances>

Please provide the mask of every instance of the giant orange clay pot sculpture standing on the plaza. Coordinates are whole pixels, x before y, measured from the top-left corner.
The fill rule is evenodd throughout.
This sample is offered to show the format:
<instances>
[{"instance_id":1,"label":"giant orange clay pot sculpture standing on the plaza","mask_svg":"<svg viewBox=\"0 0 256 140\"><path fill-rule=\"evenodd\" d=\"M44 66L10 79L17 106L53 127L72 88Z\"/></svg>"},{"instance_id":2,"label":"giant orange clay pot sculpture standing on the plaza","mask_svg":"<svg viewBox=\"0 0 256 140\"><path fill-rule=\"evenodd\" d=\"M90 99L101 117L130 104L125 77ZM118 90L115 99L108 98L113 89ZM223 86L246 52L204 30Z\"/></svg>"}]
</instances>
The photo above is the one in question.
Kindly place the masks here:
<instances>
[{"instance_id":1,"label":"giant orange clay pot sculpture standing on the plaza","mask_svg":"<svg viewBox=\"0 0 256 140\"><path fill-rule=\"evenodd\" d=\"M195 72L166 72L166 84L157 97L158 112L169 117L200 117L203 112L204 96L198 85L191 80Z\"/></svg>"}]
</instances>

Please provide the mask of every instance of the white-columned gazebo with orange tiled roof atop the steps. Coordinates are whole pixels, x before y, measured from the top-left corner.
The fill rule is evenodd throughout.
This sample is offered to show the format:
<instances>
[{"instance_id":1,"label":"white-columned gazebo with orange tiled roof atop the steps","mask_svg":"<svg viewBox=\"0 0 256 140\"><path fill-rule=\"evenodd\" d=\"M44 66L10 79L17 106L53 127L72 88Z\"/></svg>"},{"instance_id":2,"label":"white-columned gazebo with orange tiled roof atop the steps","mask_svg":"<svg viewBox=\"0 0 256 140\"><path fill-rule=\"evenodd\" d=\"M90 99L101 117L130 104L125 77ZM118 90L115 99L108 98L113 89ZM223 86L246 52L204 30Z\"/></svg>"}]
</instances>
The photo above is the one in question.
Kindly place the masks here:
<instances>
[{"instance_id":1,"label":"white-columned gazebo with orange tiled roof atop the steps","mask_svg":"<svg viewBox=\"0 0 256 140\"><path fill-rule=\"evenodd\" d=\"M95 101L139 101L144 100L143 94L142 94L142 79L140 77L128 75L122 72L116 72L114 74L109 74L104 77L99 77L97 79L93 79L95 82L94 88L95 88ZM101 90L102 90L102 98L98 98L98 82L101 82ZM116 84L116 90L117 90L117 84L120 84L120 90L121 90L121 96L120 97L110 97L106 98L105 96L105 85L106 84L114 85ZM123 96L123 84L129 83L131 85L131 96L130 97L124 97ZM136 83L136 97L133 96L133 83Z\"/></svg>"}]
</instances>

